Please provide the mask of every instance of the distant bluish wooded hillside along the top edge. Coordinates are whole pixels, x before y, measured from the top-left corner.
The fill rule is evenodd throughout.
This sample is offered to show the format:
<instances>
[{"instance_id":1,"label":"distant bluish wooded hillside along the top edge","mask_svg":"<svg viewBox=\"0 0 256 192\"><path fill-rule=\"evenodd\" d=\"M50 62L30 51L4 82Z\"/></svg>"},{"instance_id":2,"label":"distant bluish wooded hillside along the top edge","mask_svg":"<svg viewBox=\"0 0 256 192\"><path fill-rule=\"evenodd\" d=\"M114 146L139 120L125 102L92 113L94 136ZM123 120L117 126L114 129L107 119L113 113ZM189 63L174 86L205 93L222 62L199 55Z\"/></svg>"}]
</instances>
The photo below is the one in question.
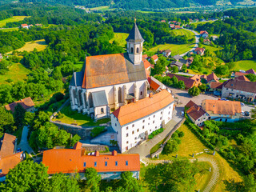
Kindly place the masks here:
<instances>
[{"instance_id":1,"label":"distant bluish wooded hillside along the top edge","mask_svg":"<svg viewBox=\"0 0 256 192\"><path fill-rule=\"evenodd\" d=\"M4 2L0 0L0 2ZM44 2L50 4L63 4L67 6L86 6L87 8L96 6L110 6L110 8L122 8L126 10L142 9L165 9L174 7L189 7L194 4L201 6L219 4L218 0L20 0L20 2ZM224 0L222 5L251 5L256 4L254 0Z\"/></svg>"}]
</instances>

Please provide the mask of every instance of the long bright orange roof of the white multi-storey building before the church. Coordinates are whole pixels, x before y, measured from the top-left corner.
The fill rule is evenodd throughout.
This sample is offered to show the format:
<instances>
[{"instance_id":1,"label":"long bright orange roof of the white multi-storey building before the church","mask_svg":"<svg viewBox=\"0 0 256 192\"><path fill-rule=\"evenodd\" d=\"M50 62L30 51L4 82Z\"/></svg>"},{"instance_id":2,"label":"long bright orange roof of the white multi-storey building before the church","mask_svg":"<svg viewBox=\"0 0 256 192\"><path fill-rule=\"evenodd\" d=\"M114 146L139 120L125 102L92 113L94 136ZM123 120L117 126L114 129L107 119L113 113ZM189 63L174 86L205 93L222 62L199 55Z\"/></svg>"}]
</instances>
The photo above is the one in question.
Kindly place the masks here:
<instances>
[{"instance_id":1,"label":"long bright orange roof of the white multi-storey building before the church","mask_svg":"<svg viewBox=\"0 0 256 192\"><path fill-rule=\"evenodd\" d=\"M154 94L152 98L142 98L135 103L132 102L126 106L120 106L113 114L118 118L120 125L123 126L146 115L153 114L172 102L174 102L172 95L167 90L162 90L158 94Z\"/></svg>"}]
</instances>

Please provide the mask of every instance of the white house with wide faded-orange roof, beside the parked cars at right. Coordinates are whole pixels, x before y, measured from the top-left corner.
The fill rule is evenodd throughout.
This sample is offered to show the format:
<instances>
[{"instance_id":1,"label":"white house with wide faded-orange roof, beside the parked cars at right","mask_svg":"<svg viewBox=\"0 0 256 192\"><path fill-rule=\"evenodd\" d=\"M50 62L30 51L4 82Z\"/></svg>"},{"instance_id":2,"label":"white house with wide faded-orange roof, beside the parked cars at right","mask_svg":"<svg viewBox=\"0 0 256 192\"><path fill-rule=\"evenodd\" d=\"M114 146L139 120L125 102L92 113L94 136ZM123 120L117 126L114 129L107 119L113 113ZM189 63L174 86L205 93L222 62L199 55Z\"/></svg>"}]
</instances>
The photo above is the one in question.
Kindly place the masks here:
<instances>
[{"instance_id":1,"label":"white house with wide faded-orange roof, beside the parked cars at right","mask_svg":"<svg viewBox=\"0 0 256 192\"><path fill-rule=\"evenodd\" d=\"M242 113L241 103L233 101L205 99L202 109L210 115L209 119L218 122L237 122Z\"/></svg>"}]
</instances>

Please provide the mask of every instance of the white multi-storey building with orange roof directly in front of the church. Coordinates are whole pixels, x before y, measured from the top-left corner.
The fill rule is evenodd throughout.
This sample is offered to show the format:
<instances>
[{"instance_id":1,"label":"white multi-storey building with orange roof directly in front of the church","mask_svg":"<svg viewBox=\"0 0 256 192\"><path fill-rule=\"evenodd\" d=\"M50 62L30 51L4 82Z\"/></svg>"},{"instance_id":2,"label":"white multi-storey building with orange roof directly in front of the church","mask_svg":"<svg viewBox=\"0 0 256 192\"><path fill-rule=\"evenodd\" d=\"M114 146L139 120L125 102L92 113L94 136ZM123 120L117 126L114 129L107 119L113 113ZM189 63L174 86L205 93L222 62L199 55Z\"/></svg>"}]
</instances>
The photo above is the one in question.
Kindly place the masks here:
<instances>
[{"instance_id":1,"label":"white multi-storey building with orange roof directly in front of the church","mask_svg":"<svg viewBox=\"0 0 256 192\"><path fill-rule=\"evenodd\" d=\"M121 106L110 114L121 153L139 145L154 130L165 127L172 119L173 110L172 94L162 90L158 94L150 94L149 98Z\"/></svg>"}]
</instances>

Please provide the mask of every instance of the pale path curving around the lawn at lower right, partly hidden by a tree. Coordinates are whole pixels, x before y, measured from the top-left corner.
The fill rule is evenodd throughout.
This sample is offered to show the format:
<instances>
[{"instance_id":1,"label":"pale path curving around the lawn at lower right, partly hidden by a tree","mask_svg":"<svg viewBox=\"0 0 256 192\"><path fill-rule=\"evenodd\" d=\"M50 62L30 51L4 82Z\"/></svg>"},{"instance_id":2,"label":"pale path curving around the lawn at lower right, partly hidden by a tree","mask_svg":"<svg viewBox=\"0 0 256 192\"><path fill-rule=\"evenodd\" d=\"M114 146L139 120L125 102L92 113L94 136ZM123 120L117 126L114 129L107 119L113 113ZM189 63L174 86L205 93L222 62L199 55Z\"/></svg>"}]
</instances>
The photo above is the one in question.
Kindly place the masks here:
<instances>
[{"instance_id":1,"label":"pale path curving around the lawn at lower right, partly hidden by a tree","mask_svg":"<svg viewBox=\"0 0 256 192\"><path fill-rule=\"evenodd\" d=\"M213 172L210 181L208 182L206 188L204 190L202 190L203 192L210 192L211 190L213 190L214 186L217 184L218 182L218 178L219 178L219 168L218 168L218 164L217 162L214 161L214 158L210 158L210 157L198 157L198 162L210 162L210 164L212 165L213 169L211 170ZM195 159L190 159L190 162L194 162ZM151 160L150 158L144 158L142 159L143 162L146 166L148 164L158 164L158 163L172 163L172 161L170 160Z\"/></svg>"}]
</instances>

